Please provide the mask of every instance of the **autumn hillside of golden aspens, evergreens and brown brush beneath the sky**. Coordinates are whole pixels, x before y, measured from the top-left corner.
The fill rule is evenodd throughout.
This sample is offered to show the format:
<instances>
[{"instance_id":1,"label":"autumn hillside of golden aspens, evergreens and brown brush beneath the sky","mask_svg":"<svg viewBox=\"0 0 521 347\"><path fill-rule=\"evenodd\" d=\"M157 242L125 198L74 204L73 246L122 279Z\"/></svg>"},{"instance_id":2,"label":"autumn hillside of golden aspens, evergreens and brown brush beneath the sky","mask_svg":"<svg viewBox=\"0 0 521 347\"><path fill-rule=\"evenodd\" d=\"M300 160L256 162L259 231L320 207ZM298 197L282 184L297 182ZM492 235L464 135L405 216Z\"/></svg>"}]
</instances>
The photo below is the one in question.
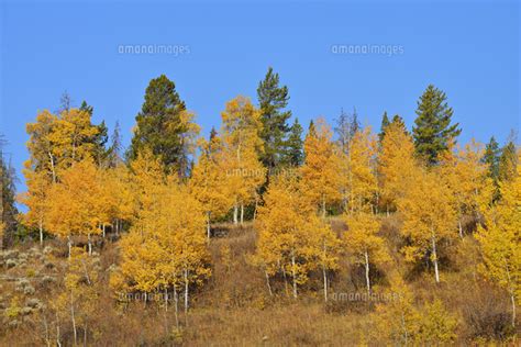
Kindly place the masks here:
<instances>
[{"instance_id":1,"label":"autumn hillside of golden aspens, evergreens and brown brush beneath the sky","mask_svg":"<svg viewBox=\"0 0 521 347\"><path fill-rule=\"evenodd\" d=\"M300 124L269 68L203 132L162 75L125 148L65 94L1 155L0 345L519 345L521 148L417 97Z\"/></svg>"}]
</instances>

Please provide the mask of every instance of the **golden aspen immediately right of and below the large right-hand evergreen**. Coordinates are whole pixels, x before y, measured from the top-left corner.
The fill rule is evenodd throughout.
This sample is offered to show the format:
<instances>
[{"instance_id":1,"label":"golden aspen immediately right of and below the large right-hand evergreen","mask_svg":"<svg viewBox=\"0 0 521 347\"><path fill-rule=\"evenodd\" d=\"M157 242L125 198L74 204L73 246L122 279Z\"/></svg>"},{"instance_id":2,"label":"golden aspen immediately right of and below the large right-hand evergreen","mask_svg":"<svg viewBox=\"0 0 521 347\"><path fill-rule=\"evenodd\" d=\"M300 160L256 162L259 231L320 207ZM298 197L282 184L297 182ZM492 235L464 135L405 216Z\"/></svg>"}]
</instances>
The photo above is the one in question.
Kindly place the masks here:
<instances>
[{"instance_id":1,"label":"golden aspen immediately right of and below the large right-hand evergreen","mask_svg":"<svg viewBox=\"0 0 521 347\"><path fill-rule=\"evenodd\" d=\"M481 161L484 153L483 146L473 139L463 149L453 150L453 146L450 146L448 150L440 155L440 176L453 192L461 237L463 217L469 215L478 220L479 202L492 200L489 189L492 181L487 177L486 164Z\"/></svg>"}]
</instances>

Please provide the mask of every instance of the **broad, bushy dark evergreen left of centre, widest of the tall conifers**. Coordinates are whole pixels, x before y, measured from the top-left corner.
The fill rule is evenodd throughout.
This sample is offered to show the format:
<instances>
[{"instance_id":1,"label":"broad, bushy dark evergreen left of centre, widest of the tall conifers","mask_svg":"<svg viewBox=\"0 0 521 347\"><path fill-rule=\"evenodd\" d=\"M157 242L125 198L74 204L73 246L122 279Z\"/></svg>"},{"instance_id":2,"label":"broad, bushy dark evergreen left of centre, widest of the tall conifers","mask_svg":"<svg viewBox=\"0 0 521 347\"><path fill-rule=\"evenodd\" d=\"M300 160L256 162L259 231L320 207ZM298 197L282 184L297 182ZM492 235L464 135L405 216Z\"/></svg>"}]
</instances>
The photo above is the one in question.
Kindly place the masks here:
<instances>
[{"instance_id":1,"label":"broad, bushy dark evergreen left of centre, widest of the tall conifers","mask_svg":"<svg viewBox=\"0 0 521 347\"><path fill-rule=\"evenodd\" d=\"M155 156L160 156L166 169L179 170L184 158L181 135L187 131L181 122L185 111L185 102L173 81L165 75L152 79L145 102L135 117L137 124L129 158L133 160L142 149L149 148Z\"/></svg>"}]
</instances>

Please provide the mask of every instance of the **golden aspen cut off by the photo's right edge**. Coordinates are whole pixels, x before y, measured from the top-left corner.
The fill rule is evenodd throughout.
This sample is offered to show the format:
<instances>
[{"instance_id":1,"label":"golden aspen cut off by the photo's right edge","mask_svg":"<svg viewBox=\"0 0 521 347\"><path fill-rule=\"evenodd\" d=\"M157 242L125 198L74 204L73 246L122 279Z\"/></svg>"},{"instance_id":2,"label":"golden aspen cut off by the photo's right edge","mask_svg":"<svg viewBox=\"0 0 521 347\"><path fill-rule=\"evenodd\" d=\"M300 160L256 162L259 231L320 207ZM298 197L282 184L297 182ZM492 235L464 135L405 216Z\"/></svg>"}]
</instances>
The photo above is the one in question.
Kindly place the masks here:
<instances>
[{"instance_id":1,"label":"golden aspen cut off by the photo's right edge","mask_svg":"<svg viewBox=\"0 0 521 347\"><path fill-rule=\"evenodd\" d=\"M519 153L518 153L519 158ZM521 298L521 165L511 181L499 183L501 200L485 211L485 226L478 226L484 257L481 272L505 288L512 304L512 326Z\"/></svg>"}]
</instances>

